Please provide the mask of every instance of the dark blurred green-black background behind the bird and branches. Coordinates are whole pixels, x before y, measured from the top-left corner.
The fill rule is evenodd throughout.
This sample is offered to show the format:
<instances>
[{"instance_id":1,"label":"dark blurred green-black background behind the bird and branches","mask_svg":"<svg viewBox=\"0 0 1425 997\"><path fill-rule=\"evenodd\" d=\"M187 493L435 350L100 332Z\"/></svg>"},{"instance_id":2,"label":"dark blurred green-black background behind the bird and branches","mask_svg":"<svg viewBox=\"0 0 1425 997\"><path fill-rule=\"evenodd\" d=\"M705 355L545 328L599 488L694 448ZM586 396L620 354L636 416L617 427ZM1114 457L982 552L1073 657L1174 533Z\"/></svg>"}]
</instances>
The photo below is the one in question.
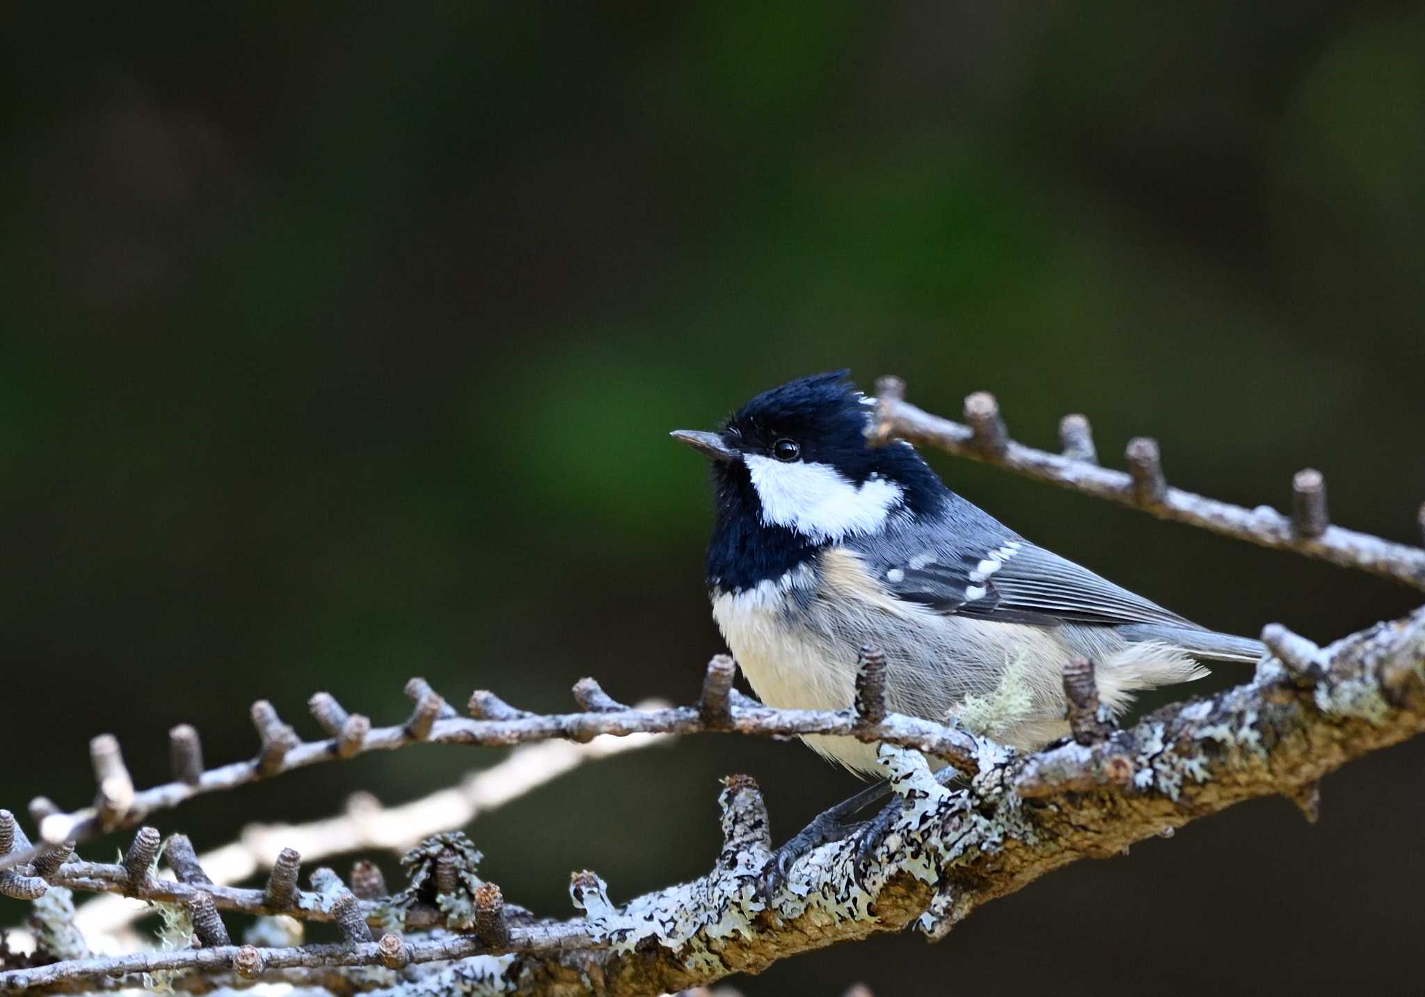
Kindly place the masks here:
<instances>
[{"instance_id":1,"label":"dark blurred green-black background behind the bird and branches","mask_svg":"<svg viewBox=\"0 0 1425 997\"><path fill-rule=\"evenodd\" d=\"M945 414L1248 506L1317 466L1337 521L1418 538L1425 17L1291 4L7 7L0 40L0 805L142 783L165 731L252 752L326 688L422 674L559 709L581 675L690 699L721 649L704 469L667 440L849 366ZM1010 526L1213 627L1328 640L1419 594L931 460ZM1240 677L1221 668L1216 687ZM1206 691L1208 684L1194 689ZM494 753L309 769L164 813L200 849ZM1425 748L1084 862L751 994L1402 990ZM854 789L694 738L470 828L570 912L700 875L715 778L785 837ZM113 845L90 849L107 857ZM21 916L0 906L0 923Z\"/></svg>"}]
</instances>

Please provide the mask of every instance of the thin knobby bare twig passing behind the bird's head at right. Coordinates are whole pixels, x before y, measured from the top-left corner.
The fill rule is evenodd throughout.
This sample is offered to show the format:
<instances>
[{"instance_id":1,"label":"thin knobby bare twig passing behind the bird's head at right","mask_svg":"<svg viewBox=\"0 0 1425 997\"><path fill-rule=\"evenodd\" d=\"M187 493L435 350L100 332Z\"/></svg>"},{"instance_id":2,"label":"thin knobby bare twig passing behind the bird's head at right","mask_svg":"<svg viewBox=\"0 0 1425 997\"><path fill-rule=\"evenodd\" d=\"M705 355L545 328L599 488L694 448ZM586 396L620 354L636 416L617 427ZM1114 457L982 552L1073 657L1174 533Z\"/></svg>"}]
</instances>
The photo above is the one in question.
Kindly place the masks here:
<instances>
[{"instance_id":1,"label":"thin knobby bare twig passing behind the bird's head at right","mask_svg":"<svg viewBox=\"0 0 1425 997\"><path fill-rule=\"evenodd\" d=\"M1291 516L1268 506L1244 508L1168 486L1157 443L1146 437L1129 442L1124 454L1129 471L1100 467L1089 420L1082 414L1064 417L1060 423L1063 453L1049 453L1009 439L999 406L988 392L965 399L969 424L922 412L905 402L903 393L905 383L899 377L876 382L879 417L871 430L872 439L928 443L958 457L1141 508L1161 520L1291 550L1425 590L1425 548L1332 526L1327 516L1325 480L1317 470L1305 469L1292 479Z\"/></svg>"}]
</instances>

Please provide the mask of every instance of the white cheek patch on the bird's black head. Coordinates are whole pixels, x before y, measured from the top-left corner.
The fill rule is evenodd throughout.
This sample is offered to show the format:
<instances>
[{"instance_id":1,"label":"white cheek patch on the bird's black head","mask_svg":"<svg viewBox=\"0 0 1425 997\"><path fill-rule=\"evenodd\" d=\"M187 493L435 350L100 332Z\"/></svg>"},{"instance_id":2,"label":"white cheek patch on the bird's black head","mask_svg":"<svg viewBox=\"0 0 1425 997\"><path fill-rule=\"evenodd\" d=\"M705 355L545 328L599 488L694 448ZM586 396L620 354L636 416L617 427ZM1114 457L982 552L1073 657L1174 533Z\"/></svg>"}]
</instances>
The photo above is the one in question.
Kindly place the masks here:
<instances>
[{"instance_id":1,"label":"white cheek patch on the bird's black head","mask_svg":"<svg viewBox=\"0 0 1425 997\"><path fill-rule=\"evenodd\" d=\"M901 487L885 479L848 481L829 464L742 457L762 503L762 523L785 526L817 541L879 530L901 504Z\"/></svg>"}]
</instances>

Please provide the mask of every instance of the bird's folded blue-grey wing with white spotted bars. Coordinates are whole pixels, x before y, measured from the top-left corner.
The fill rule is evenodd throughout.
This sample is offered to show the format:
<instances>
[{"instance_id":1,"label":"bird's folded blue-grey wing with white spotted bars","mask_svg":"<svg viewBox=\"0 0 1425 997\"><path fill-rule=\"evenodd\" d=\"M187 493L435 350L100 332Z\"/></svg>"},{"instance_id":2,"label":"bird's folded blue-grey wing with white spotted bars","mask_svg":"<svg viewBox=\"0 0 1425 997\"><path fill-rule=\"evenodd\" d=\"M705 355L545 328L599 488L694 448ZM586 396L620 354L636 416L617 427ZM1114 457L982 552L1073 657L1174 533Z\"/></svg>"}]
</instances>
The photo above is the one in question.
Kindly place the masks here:
<instances>
[{"instance_id":1,"label":"bird's folded blue-grey wing with white spotted bars","mask_svg":"<svg viewBox=\"0 0 1425 997\"><path fill-rule=\"evenodd\" d=\"M881 578L898 598L940 612L1045 627L1164 622L1196 630L1176 612L1027 540L878 561Z\"/></svg>"}]
</instances>

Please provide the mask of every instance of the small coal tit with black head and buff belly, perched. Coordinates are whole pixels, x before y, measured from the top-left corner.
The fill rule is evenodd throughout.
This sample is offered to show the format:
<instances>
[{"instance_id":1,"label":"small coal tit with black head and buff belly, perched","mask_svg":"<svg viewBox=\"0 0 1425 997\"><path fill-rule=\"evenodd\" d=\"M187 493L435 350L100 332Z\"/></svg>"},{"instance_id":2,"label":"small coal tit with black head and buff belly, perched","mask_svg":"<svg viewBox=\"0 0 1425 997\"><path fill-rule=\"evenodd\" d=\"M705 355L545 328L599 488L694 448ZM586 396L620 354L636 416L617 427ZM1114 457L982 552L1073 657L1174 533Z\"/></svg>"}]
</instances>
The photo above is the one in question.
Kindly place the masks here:
<instances>
[{"instance_id":1,"label":"small coal tit with black head and buff belly, perched","mask_svg":"<svg viewBox=\"0 0 1425 997\"><path fill-rule=\"evenodd\" d=\"M712 615L774 706L841 709L858 649L886 655L891 708L1036 749L1069 732L1063 665L1086 655L1102 702L1186 682L1261 644L1204 630L1037 547L950 491L909 443L871 446L874 399L835 372L758 395L715 433ZM808 736L874 773L876 752Z\"/></svg>"}]
</instances>

